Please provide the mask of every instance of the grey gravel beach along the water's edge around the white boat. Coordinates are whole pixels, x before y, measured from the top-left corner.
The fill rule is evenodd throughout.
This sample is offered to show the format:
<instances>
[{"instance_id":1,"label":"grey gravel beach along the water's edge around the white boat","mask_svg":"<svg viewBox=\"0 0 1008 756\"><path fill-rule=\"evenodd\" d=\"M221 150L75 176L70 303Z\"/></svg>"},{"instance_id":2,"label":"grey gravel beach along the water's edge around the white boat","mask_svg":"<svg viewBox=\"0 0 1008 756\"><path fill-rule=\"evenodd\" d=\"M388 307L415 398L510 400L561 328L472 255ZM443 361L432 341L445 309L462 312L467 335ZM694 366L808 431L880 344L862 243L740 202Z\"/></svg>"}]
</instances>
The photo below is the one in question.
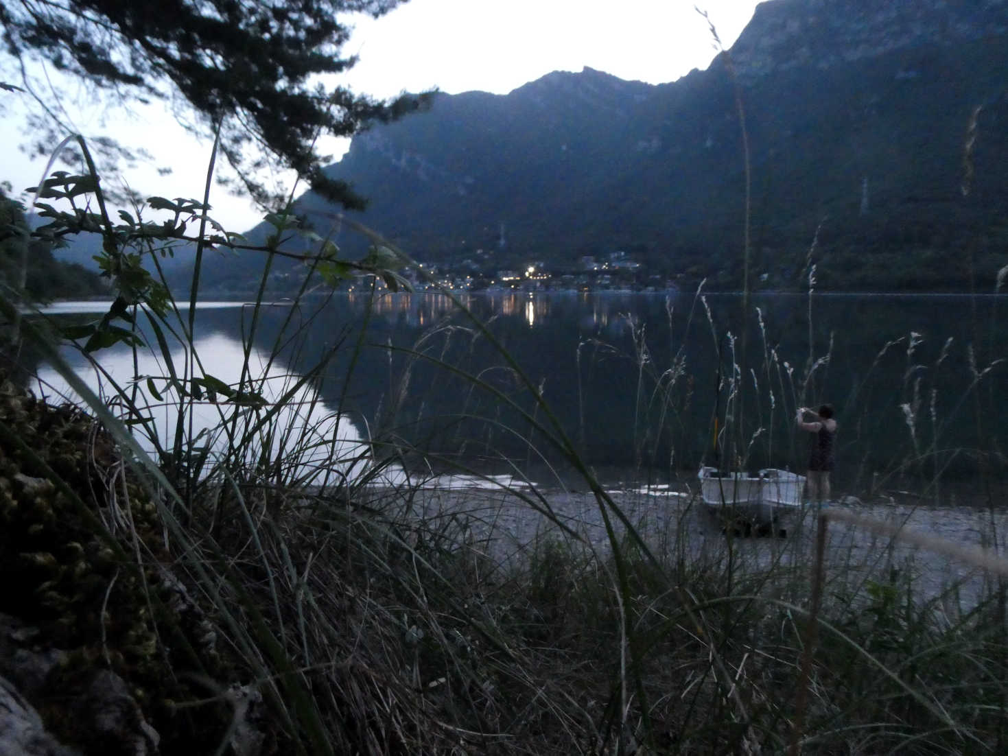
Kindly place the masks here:
<instances>
[{"instance_id":1,"label":"grey gravel beach along the water's edge around the white boat","mask_svg":"<svg viewBox=\"0 0 1008 756\"><path fill-rule=\"evenodd\" d=\"M736 537L725 533L702 502L688 493L608 493L655 554L717 561L731 552L740 574L775 566L790 568L783 572L792 577L795 571L811 577L818 518L814 507L795 513L787 523L785 537ZM568 539L573 548L603 555L610 551L599 505L590 492L475 487L432 490L414 499L413 511L428 521L450 521L463 528L471 548L501 562L514 564L527 559L530 549L550 537ZM891 536L831 520L827 530L828 590L857 592L867 581L902 586L912 579L917 601L940 599L950 613L958 613L975 606L997 583L997 576L969 560L915 545L905 535L922 533L961 546L982 546L991 555L1004 554L1001 539L1008 536L1008 512L925 505L909 495L902 501L886 496L871 502L845 497L827 505L825 511L847 512L899 528L899 533ZM626 525L616 518L613 523L619 536L626 537Z\"/></svg>"}]
</instances>

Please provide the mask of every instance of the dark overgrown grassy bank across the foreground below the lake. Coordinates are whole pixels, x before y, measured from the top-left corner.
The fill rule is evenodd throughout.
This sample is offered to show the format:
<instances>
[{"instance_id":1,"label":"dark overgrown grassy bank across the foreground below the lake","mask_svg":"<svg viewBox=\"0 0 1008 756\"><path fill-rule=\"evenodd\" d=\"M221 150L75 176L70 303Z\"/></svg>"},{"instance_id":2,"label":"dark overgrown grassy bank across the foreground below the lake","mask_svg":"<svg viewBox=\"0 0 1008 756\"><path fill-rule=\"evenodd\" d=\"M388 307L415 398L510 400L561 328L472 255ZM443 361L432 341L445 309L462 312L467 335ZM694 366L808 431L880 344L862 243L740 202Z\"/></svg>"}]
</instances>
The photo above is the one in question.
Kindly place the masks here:
<instances>
[{"instance_id":1,"label":"dark overgrown grassy bank across the foreground below the lake","mask_svg":"<svg viewBox=\"0 0 1008 756\"><path fill-rule=\"evenodd\" d=\"M685 498L245 480L172 511L87 415L5 391L2 611L67 653L35 705L86 753L61 704L101 669L162 753L1001 751L1003 584L935 592L899 537L836 523L816 582L811 513L733 539Z\"/></svg>"}]
</instances>

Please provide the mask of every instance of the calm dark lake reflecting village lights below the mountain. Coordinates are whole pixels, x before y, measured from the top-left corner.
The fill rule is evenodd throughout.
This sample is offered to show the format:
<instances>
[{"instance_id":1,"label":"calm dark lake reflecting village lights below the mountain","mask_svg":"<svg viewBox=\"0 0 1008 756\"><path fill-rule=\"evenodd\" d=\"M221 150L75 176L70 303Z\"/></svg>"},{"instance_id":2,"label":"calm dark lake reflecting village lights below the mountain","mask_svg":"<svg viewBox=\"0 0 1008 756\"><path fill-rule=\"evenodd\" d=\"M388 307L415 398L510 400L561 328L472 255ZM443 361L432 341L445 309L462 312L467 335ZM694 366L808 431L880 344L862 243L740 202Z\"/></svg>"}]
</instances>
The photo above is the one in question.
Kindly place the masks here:
<instances>
[{"instance_id":1,"label":"calm dark lake reflecting village lights below the mountain","mask_svg":"<svg viewBox=\"0 0 1008 756\"><path fill-rule=\"evenodd\" d=\"M801 471L807 434L794 410L824 401L837 410L845 490L1004 465L1005 297L760 294L743 312L733 294L461 296L471 316L430 293L340 293L257 317L212 303L198 310L196 351L207 374L237 386L248 349L267 399L309 374L319 393L298 394L306 414L269 424L313 433L320 467L326 455L354 459L366 438L407 469L564 477L577 452L610 478L667 480L701 464ZM70 309L51 317L81 318ZM141 331L159 359L139 372L163 387L164 359ZM79 354L64 354L98 384ZM128 349L96 356L118 380L131 375ZM203 408L219 424L220 405ZM158 412L167 433L171 409ZM343 446L327 447L336 436Z\"/></svg>"}]
</instances>

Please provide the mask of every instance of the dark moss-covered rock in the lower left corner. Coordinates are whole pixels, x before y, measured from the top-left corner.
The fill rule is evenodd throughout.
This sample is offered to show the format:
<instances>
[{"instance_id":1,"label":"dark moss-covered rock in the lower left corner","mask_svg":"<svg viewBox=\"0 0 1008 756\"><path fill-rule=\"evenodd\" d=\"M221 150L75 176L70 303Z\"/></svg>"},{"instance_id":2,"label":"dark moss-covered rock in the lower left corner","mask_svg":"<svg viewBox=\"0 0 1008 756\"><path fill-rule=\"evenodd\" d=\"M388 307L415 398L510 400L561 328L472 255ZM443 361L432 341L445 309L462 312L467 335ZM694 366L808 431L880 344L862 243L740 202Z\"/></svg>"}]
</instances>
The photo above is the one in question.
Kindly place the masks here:
<instances>
[{"instance_id":1,"label":"dark moss-covered rock in the lower left corner","mask_svg":"<svg viewBox=\"0 0 1008 756\"><path fill-rule=\"evenodd\" d=\"M64 708L69 691L107 670L160 734L160 753L216 748L231 708L176 703L212 698L198 680L226 687L241 665L218 653L196 593L170 571L156 502L111 434L76 407L0 376L0 613L37 628L31 652L62 652L32 701L47 727L85 753L108 752L82 743Z\"/></svg>"}]
</instances>

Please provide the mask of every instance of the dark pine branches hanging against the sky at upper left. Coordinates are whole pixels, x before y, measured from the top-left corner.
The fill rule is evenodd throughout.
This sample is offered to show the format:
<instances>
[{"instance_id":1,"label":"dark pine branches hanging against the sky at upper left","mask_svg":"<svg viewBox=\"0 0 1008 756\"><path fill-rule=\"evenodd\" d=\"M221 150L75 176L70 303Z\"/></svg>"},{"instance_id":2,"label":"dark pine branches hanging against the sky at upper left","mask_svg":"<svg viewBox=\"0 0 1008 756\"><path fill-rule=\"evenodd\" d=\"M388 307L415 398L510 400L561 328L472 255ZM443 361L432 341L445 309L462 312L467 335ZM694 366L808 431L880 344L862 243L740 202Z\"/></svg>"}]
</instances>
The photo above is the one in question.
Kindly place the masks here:
<instances>
[{"instance_id":1,"label":"dark pine branches hanging against the sky at upper left","mask_svg":"<svg viewBox=\"0 0 1008 756\"><path fill-rule=\"evenodd\" d=\"M190 130L220 128L223 154L261 204L276 198L256 174L276 161L327 199L362 208L349 184L323 173L316 140L397 118L428 96L376 101L345 87L327 89L320 76L356 61L342 53L350 27L341 18L381 16L403 1L14 0L0 5L0 26L7 62L36 106L29 129L37 150L51 148L67 131L62 95L35 86L31 76L47 64L96 96L120 104L180 103L196 116L183 119ZM111 140L97 146L130 157Z\"/></svg>"}]
</instances>

